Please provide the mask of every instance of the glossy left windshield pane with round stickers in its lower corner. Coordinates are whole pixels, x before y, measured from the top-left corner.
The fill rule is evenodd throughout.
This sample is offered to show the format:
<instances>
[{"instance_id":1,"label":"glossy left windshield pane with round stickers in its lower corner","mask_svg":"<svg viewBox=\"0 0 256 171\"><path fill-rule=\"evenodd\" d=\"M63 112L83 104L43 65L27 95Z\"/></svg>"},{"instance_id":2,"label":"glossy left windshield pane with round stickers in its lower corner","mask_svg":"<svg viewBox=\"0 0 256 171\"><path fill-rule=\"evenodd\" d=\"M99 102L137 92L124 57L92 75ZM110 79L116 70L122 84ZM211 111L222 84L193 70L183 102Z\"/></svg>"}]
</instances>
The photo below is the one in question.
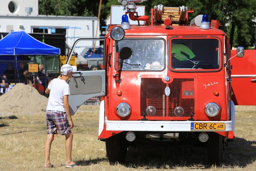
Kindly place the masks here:
<instances>
[{"instance_id":1,"label":"glossy left windshield pane with round stickers in its lower corner","mask_svg":"<svg viewBox=\"0 0 256 171\"><path fill-rule=\"evenodd\" d=\"M123 39L118 46L120 70L163 70L164 40Z\"/></svg>"}]
</instances>

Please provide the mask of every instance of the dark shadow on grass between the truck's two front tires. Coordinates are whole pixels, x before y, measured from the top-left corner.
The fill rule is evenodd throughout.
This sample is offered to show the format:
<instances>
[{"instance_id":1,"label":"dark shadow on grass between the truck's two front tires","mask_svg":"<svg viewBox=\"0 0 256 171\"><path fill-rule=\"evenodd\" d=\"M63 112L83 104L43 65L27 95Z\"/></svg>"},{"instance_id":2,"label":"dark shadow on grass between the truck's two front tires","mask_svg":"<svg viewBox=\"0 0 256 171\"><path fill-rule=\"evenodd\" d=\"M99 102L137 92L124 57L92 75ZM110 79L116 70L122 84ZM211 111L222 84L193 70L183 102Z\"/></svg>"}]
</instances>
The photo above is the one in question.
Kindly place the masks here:
<instances>
[{"instance_id":1,"label":"dark shadow on grass between the truck's two front tires","mask_svg":"<svg viewBox=\"0 0 256 171\"><path fill-rule=\"evenodd\" d=\"M206 148L184 146L138 145L128 149L124 166L145 169L174 169L189 167L204 169L208 167Z\"/></svg>"}]
</instances>

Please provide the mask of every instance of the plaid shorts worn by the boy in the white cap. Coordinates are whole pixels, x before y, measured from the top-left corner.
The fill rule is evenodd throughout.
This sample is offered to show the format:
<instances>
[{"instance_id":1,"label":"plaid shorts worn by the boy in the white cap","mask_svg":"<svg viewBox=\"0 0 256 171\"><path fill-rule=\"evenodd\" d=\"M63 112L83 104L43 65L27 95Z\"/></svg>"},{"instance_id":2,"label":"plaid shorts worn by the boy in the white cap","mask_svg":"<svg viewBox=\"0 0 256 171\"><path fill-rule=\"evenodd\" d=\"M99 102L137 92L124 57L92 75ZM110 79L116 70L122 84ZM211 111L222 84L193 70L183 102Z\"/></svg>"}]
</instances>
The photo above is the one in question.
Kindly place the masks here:
<instances>
[{"instance_id":1,"label":"plaid shorts worn by the boy in the white cap","mask_svg":"<svg viewBox=\"0 0 256 171\"><path fill-rule=\"evenodd\" d=\"M71 132L66 112L58 110L46 110L47 134L56 134L57 130L61 135Z\"/></svg>"}]
</instances>

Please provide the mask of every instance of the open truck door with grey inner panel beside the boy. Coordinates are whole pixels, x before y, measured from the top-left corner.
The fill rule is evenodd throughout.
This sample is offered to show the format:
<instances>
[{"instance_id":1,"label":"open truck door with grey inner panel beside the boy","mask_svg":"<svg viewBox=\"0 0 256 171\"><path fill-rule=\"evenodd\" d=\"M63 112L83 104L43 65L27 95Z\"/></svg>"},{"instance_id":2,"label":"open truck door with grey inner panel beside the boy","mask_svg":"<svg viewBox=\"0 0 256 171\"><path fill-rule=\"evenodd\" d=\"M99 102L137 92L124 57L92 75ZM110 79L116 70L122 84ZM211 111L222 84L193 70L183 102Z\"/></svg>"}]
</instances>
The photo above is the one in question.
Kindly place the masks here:
<instances>
[{"instance_id":1,"label":"open truck door with grey inner panel beside the boy","mask_svg":"<svg viewBox=\"0 0 256 171\"><path fill-rule=\"evenodd\" d=\"M79 46L78 45L79 43L80 45L83 45L84 41L90 41L90 42L103 41L105 45L105 39L102 39L102 38L77 39L71 49L71 53L67 60L67 64L70 61L70 58L72 56L72 53L74 52L75 47ZM86 45L87 44L88 42L86 42ZM104 54L105 54L105 49L104 49L103 55ZM105 70L76 71L73 73L73 76L71 79L69 79L68 83L69 83L69 89L70 89L70 96L69 96L70 113L71 115L74 115L77 109L81 106L81 104L83 104L88 99L105 95Z\"/></svg>"}]
</instances>

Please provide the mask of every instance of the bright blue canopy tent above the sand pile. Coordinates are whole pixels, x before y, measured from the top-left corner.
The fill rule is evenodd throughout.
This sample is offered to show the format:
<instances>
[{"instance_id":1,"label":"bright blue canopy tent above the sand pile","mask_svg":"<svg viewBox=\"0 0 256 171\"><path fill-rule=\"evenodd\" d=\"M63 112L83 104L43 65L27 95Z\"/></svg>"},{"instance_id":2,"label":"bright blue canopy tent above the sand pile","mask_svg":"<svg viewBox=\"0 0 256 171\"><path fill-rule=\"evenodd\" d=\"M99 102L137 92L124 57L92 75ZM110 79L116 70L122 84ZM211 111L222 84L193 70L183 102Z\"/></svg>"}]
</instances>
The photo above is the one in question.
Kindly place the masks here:
<instances>
[{"instance_id":1,"label":"bright blue canopy tent above the sand pile","mask_svg":"<svg viewBox=\"0 0 256 171\"><path fill-rule=\"evenodd\" d=\"M0 40L0 59L10 59L9 57L13 56L14 60L17 61L17 56L19 57L21 55L59 54L59 48L38 41L25 31L10 32L7 36ZM17 70L17 62L15 65L15 70Z\"/></svg>"}]
</instances>

